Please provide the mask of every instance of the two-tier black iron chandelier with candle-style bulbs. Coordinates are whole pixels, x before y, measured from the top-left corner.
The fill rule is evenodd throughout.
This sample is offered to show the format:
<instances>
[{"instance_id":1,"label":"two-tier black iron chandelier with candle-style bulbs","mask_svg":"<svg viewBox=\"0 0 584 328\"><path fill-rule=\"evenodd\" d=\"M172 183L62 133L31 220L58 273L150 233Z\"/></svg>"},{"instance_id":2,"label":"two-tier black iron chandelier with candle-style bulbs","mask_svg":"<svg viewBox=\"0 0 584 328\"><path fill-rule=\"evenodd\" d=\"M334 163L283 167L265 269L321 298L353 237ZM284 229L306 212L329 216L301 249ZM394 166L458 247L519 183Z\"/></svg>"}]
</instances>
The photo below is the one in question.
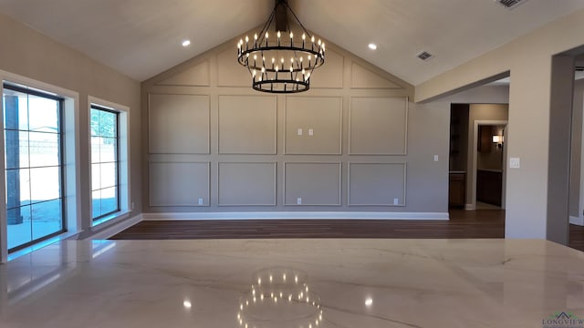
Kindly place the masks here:
<instances>
[{"instance_id":1,"label":"two-tier black iron chandelier with candle-style bulbs","mask_svg":"<svg viewBox=\"0 0 584 328\"><path fill-rule=\"evenodd\" d=\"M294 18L292 26L287 19L288 12ZM300 36L295 38L293 27ZM249 36L239 40L237 61L247 67L252 76L252 87L257 91L303 92L310 88L310 77L315 68L325 63L325 44L310 35L287 0L276 0L274 10L259 34L256 33L253 40Z\"/></svg>"}]
</instances>

